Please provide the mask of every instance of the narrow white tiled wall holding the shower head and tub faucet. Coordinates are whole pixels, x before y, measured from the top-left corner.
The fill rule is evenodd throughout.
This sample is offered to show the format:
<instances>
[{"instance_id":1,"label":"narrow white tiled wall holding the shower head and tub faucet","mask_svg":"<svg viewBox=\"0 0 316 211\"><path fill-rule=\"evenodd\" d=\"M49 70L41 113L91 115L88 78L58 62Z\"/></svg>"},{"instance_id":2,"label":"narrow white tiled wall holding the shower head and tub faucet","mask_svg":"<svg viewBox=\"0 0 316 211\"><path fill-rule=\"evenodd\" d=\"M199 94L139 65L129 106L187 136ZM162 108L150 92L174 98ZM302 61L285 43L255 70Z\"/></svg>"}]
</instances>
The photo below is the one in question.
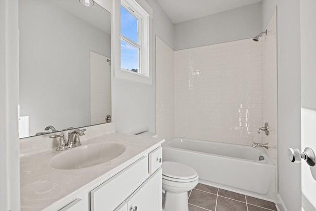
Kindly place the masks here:
<instances>
[{"instance_id":1,"label":"narrow white tiled wall holding the shower head and tub faucet","mask_svg":"<svg viewBox=\"0 0 316 211\"><path fill-rule=\"evenodd\" d=\"M263 143L272 145L265 149L277 166L277 55L276 55L276 10L266 28L268 34L260 38L262 42L263 78L263 124L269 123L269 135L262 132Z\"/></svg>"}]
</instances>

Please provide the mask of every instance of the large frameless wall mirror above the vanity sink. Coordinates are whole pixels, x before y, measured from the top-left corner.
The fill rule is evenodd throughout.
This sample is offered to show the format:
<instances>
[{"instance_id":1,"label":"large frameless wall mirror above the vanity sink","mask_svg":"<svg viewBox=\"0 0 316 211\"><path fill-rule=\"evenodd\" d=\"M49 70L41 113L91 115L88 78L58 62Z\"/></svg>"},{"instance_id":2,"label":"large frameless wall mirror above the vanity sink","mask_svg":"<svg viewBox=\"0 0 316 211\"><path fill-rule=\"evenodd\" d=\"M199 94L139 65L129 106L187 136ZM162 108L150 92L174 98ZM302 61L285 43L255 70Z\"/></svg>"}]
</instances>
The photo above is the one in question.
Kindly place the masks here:
<instances>
[{"instance_id":1,"label":"large frameless wall mirror above the vanity sink","mask_svg":"<svg viewBox=\"0 0 316 211\"><path fill-rule=\"evenodd\" d=\"M19 0L19 30L20 138L106 123L111 14L79 0Z\"/></svg>"}]
</instances>

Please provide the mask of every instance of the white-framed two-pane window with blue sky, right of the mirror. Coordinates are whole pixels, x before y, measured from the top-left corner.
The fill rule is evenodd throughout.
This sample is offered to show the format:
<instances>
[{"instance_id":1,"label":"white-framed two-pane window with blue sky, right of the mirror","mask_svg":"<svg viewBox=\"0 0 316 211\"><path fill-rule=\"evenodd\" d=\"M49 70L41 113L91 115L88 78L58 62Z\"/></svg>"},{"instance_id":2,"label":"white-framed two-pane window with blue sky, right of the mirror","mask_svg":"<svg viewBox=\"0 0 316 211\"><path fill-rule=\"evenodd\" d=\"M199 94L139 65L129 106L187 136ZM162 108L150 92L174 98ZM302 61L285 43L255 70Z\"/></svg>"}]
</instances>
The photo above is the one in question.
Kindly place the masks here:
<instances>
[{"instance_id":1,"label":"white-framed two-pane window with blue sky, right of the mirror","mask_svg":"<svg viewBox=\"0 0 316 211\"><path fill-rule=\"evenodd\" d=\"M121 0L120 66L149 77L149 15L134 0Z\"/></svg>"}]
</instances>

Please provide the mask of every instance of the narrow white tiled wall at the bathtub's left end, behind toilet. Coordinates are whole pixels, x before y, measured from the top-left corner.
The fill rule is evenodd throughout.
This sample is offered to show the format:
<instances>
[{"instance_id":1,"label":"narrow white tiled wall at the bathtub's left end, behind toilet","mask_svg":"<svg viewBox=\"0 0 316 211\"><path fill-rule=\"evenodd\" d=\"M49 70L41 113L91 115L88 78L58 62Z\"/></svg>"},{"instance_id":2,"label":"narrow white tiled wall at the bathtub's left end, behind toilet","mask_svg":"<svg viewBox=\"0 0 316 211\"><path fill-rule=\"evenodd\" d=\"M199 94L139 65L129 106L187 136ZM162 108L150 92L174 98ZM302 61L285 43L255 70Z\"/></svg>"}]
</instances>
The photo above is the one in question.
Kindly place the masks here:
<instances>
[{"instance_id":1,"label":"narrow white tiled wall at the bathtub's left end, behind toilet","mask_svg":"<svg viewBox=\"0 0 316 211\"><path fill-rule=\"evenodd\" d=\"M174 137L174 52L156 36L156 132Z\"/></svg>"}]
</instances>

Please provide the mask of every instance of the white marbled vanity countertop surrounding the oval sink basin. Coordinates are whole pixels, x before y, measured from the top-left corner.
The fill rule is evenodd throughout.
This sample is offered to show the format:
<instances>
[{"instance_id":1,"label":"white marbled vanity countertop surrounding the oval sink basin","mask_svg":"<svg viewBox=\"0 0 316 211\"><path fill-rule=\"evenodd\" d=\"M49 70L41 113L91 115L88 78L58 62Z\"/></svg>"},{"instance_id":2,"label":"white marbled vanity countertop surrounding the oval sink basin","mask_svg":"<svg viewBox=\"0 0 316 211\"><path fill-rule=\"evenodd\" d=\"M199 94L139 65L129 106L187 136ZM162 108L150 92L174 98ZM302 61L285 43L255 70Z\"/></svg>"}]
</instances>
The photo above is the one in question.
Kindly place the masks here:
<instances>
[{"instance_id":1,"label":"white marbled vanity countertop surrounding the oval sink basin","mask_svg":"<svg viewBox=\"0 0 316 211\"><path fill-rule=\"evenodd\" d=\"M100 142L120 143L126 147L126 150L109 162L72 170L49 167L49 161L53 156L66 151L49 150L22 156L20 158L21 211L43 210L82 187L91 185L91 182L98 178L102 177L102 181L105 181L106 178L110 178L135 162L144 152L154 150L163 140L114 132L81 143L87 145Z\"/></svg>"}]
</instances>

